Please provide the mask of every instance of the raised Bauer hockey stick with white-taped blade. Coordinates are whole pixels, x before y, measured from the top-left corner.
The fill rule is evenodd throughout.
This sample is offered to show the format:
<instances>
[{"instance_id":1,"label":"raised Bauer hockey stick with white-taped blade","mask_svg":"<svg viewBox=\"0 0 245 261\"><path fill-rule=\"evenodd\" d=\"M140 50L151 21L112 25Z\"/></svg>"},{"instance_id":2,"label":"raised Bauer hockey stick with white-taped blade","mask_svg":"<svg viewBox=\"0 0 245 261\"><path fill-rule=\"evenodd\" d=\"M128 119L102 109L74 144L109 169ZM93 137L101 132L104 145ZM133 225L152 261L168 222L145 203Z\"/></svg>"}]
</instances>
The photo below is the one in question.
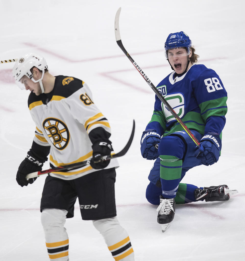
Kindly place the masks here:
<instances>
[{"instance_id":1,"label":"raised Bauer hockey stick with white-taped blade","mask_svg":"<svg viewBox=\"0 0 245 261\"><path fill-rule=\"evenodd\" d=\"M146 76L146 74L141 70L141 68L138 66L138 64L132 59L132 57L128 54L126 49L124 48L121 40L121 35L119 31L119 16L121 12L121 7L117 10L116 17L115 17L115 36L118 46L122 49L124 54L129 58L130 62L133 63L135 68L139 71L141 76L144 78L144 80L148 83L148 85L152 88L152 90L155 92L156 96L162 101L162 103L166 106L166 108L171 112L171 114L174 116L174 118L179 122L179 124L182 126L182 128L187 132L187 134L191 137L191 139L194 141L194 143L200 148L200 143L196 139L196 137L192 134L192 132L187 128L185 123L180 119L178 114L172 109L172 107L168 104L168 102L165 100L164 97L161 96L158 89L152 84L150 79Z\"/></svg>"}]
</instances>

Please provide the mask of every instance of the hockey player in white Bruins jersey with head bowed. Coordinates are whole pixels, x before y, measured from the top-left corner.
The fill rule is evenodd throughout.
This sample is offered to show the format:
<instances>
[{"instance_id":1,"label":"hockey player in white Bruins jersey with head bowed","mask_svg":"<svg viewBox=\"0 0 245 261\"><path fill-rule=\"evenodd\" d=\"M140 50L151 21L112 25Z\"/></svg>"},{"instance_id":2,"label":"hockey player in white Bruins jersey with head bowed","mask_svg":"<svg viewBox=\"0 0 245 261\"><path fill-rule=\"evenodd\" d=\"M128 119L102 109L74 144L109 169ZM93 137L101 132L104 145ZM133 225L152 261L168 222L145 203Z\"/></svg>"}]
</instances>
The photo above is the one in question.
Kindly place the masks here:
<instances>
[{"instance_id":1,"label":"hockey player in white Bruins jersey with head bowed","mask_svg":"<svg viewBox=\"0 0 245 261\"><path fill-rule=\"evenodd\" d=\"M92 220L112 257L133 261L128 233L116 217L117 159L94 163L98 156L113 153L109 122L94 104L85 82L70 76L53 76L47 68L43 57L26 54L12 71L16 84L30 91L28 108L36 124L32 147L17 171L18 184L23 187L33 183L36 178L27 180L25 176L41 170L48 155L51 168L92 157L91 165L46 177L40 209L49 258L69 260L64 224L66 218L73 217L78 198L82 219Z\"/></svg>"}]
</instances>

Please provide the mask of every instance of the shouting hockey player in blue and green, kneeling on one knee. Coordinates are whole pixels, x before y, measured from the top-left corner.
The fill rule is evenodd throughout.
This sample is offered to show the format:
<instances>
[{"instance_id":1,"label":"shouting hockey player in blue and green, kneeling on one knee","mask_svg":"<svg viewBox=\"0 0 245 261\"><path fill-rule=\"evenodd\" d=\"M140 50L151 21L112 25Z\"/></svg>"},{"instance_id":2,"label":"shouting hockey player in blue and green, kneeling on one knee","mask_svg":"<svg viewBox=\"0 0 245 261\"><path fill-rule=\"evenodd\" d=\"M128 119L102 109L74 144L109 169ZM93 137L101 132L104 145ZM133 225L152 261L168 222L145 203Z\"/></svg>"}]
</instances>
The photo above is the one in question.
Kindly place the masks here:
<instances>
[{"instance_id":1,"label":"shouting hockey player in blue and green, kneeling on one knee","mask_svg":"<svg viewBox=\"0 0 245 261\"><path fill-rule=\"evenodd\" d=\"M218 161L227 92L214 70L195 64L199 56L184 32L169 34L165 51L174 72L156 88L200 141L200 147L156 96L152 118L141 137L141 154L146 159L156 159L148 177L146 198L159 205L157 221L162 224L162 232L173 221L175 204L225 201L237 192L227 185L198 188L180 183L189 169Z\"/></svg>"}]
</instances>

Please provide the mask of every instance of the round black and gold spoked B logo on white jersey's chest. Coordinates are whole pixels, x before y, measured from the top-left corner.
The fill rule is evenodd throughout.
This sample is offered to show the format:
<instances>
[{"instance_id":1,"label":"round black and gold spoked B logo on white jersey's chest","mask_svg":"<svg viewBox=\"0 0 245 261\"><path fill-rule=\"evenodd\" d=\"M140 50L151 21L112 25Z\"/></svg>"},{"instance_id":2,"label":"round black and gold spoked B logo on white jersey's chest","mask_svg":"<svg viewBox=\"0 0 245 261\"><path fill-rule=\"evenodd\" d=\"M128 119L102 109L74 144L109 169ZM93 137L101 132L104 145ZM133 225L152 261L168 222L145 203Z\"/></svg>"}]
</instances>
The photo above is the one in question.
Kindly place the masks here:
<instances>
[{"instance_id":1,"label":"round black and gold spoked B logo on white jersey's chest","mask_svg":"<svg viewBox=\"0 0 245 261\"><path fill-rule=\"evenodd\" d=\"M55 118L47 118L43 121L42 126L56 149L64 150L70 138L66 124Z\"/></svg>"}]
</instances>

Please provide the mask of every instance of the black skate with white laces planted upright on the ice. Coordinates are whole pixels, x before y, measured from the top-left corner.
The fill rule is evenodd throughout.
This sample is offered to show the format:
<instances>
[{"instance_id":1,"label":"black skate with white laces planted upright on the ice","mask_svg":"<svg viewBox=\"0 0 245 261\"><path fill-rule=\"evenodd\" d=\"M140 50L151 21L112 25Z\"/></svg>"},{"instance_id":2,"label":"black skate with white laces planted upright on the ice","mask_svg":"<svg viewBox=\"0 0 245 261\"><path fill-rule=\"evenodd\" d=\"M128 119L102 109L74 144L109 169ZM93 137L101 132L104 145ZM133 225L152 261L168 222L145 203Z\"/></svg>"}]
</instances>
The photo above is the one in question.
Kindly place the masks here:
<instances>
[{"instance_id":1,"label":"black skate with white laces planted upright on the ice","mask_svg":"<svg viewBox=\"0 0 245 261\"><path fill-rule=\"evenodd\" d=\"M157 222L162 225L162 232L165 232L174 219L175 199L165 199L160 195L160 205L156 211L158 211Z\"/></svg>"}]
</instances>

